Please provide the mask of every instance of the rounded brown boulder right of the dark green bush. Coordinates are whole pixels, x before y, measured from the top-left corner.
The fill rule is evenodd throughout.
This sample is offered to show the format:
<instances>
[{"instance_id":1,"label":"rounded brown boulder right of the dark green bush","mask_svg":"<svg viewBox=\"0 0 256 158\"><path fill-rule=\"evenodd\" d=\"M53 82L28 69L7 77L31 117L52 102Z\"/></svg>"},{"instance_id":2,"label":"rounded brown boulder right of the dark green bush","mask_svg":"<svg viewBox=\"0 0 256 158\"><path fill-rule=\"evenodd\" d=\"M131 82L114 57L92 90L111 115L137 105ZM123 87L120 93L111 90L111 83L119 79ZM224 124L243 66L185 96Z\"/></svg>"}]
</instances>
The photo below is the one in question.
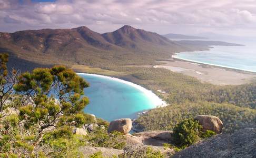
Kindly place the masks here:
<instances>
[{"instance_id":1,"label":"rounded brown boulder right of the dark green bush","mask_svg":"<svg viewBox=\"0 0 256 158\"><path fill-rule=\"evenodd\" d=\"M195 120L198 120L199 123L203 126L203 132L206 130L211 130L217 134L220 134L223 131L223 123L220 118L216 116L198 115L195 116Z\"/></svg>"}]
</instances>

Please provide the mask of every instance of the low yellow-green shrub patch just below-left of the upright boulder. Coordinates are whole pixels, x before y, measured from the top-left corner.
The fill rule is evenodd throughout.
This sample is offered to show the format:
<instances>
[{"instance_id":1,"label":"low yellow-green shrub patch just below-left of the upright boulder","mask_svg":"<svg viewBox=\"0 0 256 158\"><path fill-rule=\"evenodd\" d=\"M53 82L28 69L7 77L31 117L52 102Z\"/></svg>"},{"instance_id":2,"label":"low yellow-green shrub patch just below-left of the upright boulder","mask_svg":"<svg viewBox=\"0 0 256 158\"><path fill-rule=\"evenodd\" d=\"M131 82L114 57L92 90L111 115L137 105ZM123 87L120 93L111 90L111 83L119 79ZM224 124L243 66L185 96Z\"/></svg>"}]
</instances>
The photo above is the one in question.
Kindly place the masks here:
<instances>
[{"instance_id":1,"label":"low yellow-green shrub patch just below-left of the upright boulder","mask_svg":"<svg viewBox=\"0 0 256 158\"><path fill-rule=\"evenodd\" d=\"M100 127L91 132L88 135L87 140L92 146L96 147L123 149L126 145L125 137L122 133L117 131L107 133L106 130L100 129Z\"/></svg>"}]
</instances>

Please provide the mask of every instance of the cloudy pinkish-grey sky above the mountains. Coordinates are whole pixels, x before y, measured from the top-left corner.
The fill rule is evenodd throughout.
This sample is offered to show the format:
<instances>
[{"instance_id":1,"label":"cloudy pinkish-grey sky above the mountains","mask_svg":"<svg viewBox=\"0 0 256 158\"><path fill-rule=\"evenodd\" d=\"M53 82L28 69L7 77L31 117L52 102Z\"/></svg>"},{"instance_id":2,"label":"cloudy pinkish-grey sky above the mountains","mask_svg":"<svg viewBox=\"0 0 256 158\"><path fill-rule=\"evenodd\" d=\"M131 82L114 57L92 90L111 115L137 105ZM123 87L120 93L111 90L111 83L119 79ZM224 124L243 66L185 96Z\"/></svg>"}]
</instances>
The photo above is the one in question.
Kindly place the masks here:
<instances>
[{"instance_id":1,"label":"cloudy pinkish-grey sky above the mountains","mask_svg":"<svg viewBox=\"0 0 256 158\"><path fill-rule=\"evenodd\" d=\"M159 34L256 36L256 0L0 0L0 32L123 25Z\"/></svg>"}]
</instances>

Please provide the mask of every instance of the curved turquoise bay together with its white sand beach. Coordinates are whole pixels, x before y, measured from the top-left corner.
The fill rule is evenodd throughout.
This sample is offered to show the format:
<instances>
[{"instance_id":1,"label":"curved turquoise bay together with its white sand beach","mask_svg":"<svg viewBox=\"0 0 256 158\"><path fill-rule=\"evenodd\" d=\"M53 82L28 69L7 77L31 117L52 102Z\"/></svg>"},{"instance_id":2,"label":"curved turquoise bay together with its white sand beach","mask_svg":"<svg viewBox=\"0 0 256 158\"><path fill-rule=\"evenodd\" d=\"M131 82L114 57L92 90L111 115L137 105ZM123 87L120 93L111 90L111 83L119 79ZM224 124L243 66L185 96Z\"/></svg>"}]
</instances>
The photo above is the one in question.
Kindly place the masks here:
<instances>
[{"instance_id":1,"label":"curved turquoise bay together with its white sand beach","mask_svg":"<svg viewBox=\"0 0 256 158\"><path fill-rule=\"evenodd\" d=\"M129 82L100 75L78 75L90 83L90 87L84 90L90 98L84 111L107 121L135 118L137 112L154 108L161 102L151 91Z\"/></svg>"}]
</instances>

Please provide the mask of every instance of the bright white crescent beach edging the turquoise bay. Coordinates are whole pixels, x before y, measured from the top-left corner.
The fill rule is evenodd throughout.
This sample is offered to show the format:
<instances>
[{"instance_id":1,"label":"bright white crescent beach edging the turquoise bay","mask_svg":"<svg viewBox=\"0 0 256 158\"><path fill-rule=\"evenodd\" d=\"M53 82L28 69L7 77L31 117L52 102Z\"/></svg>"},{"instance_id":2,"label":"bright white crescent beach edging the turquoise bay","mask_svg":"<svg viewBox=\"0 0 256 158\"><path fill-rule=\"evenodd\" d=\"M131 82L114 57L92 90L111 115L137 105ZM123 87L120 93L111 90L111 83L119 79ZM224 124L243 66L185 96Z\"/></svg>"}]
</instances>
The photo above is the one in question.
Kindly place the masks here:
<instances>
[{"instance_id":1,"label":"bright white crescent beach edging the turquoise bay","mask_svg":"<svg viewBox=\"0 0 256 158\"><path fill-rule=\"evenodd\" d=\"M91 75L91 76L107 78L109 80L113 80L113 81L116 81L116 82L120 82L120 83L123 83L123 84L130 85L130 86L136 88L137 90L141 91L142 93L144 93L144 95L146 95L148 98L151 98L153 104L155 105L155 107L153 107L153 108L168 106L168 103L163 101L162 98L157 96L151 90L147 90L145 87L143 87L143 86L141 86L139 84L136 84L136 83L133 83L133 82L129 82L129 81L125 81L125 80L122 80L120 78L112 77L112 76L105 76L105 75L99 75L99 74L90 74L90 73L80 73L80 72L76 72L76 73L77 74L81 74L81 75L84 74L84 75Z\"/></svg>"}]
</instances>

